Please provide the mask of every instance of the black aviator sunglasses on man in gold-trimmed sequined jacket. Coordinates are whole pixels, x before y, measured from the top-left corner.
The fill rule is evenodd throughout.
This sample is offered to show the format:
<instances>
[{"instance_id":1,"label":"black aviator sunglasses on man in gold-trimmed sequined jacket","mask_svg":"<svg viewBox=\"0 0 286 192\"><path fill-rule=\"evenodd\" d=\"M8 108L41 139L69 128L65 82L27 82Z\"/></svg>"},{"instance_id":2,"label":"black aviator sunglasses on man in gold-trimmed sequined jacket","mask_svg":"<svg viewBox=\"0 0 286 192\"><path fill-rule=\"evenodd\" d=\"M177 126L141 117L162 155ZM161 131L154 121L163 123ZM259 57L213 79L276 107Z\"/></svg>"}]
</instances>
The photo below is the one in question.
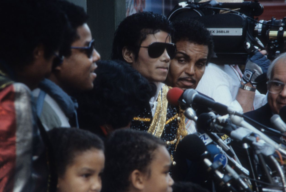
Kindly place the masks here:
<instances>
[{"instance_id":1,"label":"black aviator sunglasses on man in gold-trimmed sequined jacket","mask_svg":"<svg viewBox=\"0 0 286 192\"><path fill-rule=\"evenodd\" d=\"M139 47L143 47L143 46L139 46ZM177 47L174 43L154 42L154 43L151 43L148 47L143 47L143 48L148 48L148 54L149 54L149 57L151 58L160 57L166 49L168 55L170 56L170 59L174 59L176 51L177 51Z\"/></svg>"}]
</instances>

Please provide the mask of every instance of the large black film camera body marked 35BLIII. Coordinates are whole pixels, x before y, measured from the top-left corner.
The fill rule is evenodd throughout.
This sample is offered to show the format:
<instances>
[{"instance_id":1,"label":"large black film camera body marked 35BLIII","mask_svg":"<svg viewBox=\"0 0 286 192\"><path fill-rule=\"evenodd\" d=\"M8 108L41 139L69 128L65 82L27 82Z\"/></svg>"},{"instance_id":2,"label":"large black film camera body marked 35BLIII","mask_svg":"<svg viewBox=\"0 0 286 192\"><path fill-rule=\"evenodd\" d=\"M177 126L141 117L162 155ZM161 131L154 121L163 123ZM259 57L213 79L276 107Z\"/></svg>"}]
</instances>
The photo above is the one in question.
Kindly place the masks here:
<instances>
[{"instance_id":1,"label":"large black film camera body marked 35BLIII","mask_svg":"<svg viewBox=\"0 0 286 192\"><path fill-rule=\"evenodd\" d=\"M210 62L245 65L258 49L267 49L269 59L286 50L286 17L270 21L254 19L262 13L263 6L259 2L218 3L212 0L179 3L167 17L170 21L196 19L205 25L215 44Z\"/></svg>"}]
</instances>

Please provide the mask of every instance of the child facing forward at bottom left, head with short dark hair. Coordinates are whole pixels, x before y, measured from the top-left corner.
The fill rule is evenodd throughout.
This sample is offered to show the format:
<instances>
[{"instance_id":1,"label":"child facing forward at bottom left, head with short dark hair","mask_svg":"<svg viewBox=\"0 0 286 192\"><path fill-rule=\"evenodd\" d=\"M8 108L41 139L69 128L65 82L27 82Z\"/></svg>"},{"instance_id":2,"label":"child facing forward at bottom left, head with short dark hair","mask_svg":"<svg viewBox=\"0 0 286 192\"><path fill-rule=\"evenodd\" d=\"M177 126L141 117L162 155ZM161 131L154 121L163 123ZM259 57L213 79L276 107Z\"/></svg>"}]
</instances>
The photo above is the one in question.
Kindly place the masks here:
<instances>
[{"instance_id":1,"label":"child facing forward at bottom left, head with short dark hair","mask_svg":"<svg viewBox=\"0 0 286 192\"><path fill-rule=\"evenodd\" d=\"M105 161L102 140L76 128L55 128L48 134L58 174L57 192L99 192Z\"/></svg>"}]
</instances>

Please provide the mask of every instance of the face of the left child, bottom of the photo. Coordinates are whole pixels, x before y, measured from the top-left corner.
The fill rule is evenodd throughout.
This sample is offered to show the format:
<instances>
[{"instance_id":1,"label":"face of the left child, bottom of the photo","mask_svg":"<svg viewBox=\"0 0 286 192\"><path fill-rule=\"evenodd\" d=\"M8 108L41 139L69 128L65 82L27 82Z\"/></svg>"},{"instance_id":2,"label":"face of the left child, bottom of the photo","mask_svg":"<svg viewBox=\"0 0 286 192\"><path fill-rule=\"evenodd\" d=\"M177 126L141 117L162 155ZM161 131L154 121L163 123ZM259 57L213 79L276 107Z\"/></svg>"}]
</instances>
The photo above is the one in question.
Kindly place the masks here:
<instances>
[{"instance_id":1,"label":"face of the left child, bottom of the photo","mask_svg":"<svg viewBox=\"0 0 286 192\"><path fill-rule=\"evenodd\" d=\"M76 153L73 162L58 179L57 192L99 192L104 161L104 153L99 149Z\"/></svg>"}]
</instances>

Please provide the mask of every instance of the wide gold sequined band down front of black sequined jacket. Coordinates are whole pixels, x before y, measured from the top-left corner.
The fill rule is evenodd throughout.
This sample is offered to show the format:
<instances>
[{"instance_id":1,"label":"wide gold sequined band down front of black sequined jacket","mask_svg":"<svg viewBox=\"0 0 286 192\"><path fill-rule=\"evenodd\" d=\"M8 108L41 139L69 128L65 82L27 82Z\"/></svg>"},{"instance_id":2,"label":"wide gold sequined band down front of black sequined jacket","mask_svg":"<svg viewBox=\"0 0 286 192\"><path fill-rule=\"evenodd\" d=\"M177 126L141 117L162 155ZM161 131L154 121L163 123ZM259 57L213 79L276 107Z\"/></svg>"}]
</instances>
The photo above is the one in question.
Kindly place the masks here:
<instances>
[{"instance_id":1,"label":"wide gold sequined band down front of black sequined jacket","mask_svg":"<svg viewBox=\"0 0 286 192\"><path fill-rule=\"evenodd\" d=\"M157 101L157 107L154 114L154 118L152 120L152 123L150 125L150 128L148 129L149 133L152 133L152 135L155 135L156 137L161 137L165 124L166 124L166 118L167 118L167 92L169 88L167 85L164 85L162 89L158 93L158 101Z\"/></svg>"}]
</instances>

